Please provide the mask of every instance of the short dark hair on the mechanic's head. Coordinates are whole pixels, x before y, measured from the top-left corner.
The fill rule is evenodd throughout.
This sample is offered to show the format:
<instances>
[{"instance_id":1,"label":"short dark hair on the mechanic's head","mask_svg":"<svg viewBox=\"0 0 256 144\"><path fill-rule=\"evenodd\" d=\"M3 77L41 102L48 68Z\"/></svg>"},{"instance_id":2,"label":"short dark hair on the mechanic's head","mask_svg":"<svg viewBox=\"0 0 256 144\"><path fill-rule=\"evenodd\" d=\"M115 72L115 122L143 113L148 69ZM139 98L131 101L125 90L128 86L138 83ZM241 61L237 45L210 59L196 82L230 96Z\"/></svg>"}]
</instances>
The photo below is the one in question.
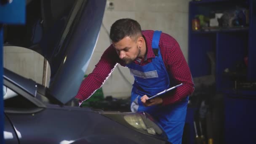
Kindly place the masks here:
<instances>
[{"instance_id":1,"label":"short dark hair on the mechanic's head","mask_svg":"<svg viewBox=\"0 0 256 144\"><path fill-rule=\"evenodd\" d=\"M141 35L140 24L133 19L118 19L112 24L110 29L110 39L112 42L118 42L124 37L133 37Z\"/></svg>"}]
</instances>

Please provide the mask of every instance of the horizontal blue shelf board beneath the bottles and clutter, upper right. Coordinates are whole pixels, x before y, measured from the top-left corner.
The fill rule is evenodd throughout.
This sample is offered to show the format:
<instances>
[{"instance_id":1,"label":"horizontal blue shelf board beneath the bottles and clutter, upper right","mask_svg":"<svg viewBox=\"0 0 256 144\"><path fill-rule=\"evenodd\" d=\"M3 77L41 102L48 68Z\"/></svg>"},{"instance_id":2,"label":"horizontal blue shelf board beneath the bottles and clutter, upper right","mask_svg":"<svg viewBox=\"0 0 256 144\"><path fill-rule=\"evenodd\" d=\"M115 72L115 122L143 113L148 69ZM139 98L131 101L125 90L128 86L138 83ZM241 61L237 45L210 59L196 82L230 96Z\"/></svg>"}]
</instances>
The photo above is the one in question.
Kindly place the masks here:
<instances>
[{"instance_id":1,"label":"horizontal blue shelf board beneath the bottles and clutter, upper right","mask_svg":"<svg viewBox=\"0 0 256 144\"><path fill-rule=\"evenodd\" d=\"M192 34L208 34L208 33L218 33L218 32L248 32L249 27L237 27L237 28L220 28L220 29L208 29L208 30L198 30L191 31Z\"/></svg>"}]
</instances>

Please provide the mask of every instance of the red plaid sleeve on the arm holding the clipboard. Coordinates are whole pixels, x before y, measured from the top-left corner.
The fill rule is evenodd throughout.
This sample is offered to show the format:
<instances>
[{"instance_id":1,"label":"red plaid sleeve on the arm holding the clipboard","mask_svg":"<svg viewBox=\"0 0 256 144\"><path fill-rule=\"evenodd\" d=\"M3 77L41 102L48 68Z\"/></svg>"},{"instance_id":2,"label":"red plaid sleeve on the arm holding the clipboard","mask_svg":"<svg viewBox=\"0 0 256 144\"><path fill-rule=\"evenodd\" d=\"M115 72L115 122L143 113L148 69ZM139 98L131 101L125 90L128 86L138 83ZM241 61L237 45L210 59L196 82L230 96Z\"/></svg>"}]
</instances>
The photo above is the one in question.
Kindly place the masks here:
<instances>
[{"instance_id":1,"label":"red plaid sleeve on the arm holding the clipboard","mask_svg":"<svg viewBox=\"0 0 256 144\"><path fill-rule=\"evenodd\" d=\"M192 81L192 75L189 70L186 59L181 51L179 44L176 40L171 40L172 46L169 48L170 51L166 51L165 65L168 73L171 75L171 84L183 83L180 87L174 91L167 93L163 96L163 105L173 104L181 101L186 96L192 94L194 91L194 83Z\"/></svg>"}]
</instances>

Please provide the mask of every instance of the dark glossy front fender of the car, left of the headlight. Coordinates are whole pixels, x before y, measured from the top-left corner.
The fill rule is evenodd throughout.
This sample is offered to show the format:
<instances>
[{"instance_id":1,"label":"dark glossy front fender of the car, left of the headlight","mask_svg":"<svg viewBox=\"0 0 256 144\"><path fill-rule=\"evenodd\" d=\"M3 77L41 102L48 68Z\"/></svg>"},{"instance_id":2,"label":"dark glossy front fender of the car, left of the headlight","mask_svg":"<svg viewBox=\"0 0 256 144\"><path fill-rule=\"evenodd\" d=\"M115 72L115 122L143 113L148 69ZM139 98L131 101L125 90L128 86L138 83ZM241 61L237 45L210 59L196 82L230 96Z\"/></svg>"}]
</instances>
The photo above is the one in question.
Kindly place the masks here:
<instances>
[{"instance_id":1,"label":"dark glossy front fender of the car, left of the headlight","mask_svg":"<svg viewBox=\"0 0 256 144\"><path fill-rule=\"evenodd\" d=\"M47 105L37 113L6 113L20 133L20 144L61 144L87 141L88 144L165 144L166 141L127 128L97 111L79 107Z\"/></svg>"}]
</instances>

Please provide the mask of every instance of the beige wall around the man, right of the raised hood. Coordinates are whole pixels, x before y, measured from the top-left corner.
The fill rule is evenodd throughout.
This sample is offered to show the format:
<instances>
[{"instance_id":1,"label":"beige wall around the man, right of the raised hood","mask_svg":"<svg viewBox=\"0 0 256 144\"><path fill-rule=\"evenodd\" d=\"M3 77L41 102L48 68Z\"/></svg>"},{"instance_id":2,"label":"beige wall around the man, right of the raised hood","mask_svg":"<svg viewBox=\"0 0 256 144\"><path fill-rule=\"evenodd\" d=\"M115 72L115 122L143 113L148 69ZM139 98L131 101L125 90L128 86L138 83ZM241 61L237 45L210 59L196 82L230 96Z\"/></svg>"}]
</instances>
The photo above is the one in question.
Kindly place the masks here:
<instances>
[{"instance_id":1,"label":"beige wall around the man, right of the raised hood","mask_svg":"<svg viewBox=\"0 0 256 144\"><path fill-rule=\"evenodd\" d=\"M110 31L117 19L131 18L141 24L142 29L162 30L173 36L180 44L188 59L188 5L190 0L108 0L113 9L104 13L103 24ZM101 27L99 40L86 74L92 72L102 53L110 45L109 36ZM118 69L119 68L119 69ZM125 78L121 75L123 73ZM127 80L126 80L127 79ZM133 77L128 68L118 65L102 86L104 96L128 97L131 93Z\"/></svg>"}]
</instances>

